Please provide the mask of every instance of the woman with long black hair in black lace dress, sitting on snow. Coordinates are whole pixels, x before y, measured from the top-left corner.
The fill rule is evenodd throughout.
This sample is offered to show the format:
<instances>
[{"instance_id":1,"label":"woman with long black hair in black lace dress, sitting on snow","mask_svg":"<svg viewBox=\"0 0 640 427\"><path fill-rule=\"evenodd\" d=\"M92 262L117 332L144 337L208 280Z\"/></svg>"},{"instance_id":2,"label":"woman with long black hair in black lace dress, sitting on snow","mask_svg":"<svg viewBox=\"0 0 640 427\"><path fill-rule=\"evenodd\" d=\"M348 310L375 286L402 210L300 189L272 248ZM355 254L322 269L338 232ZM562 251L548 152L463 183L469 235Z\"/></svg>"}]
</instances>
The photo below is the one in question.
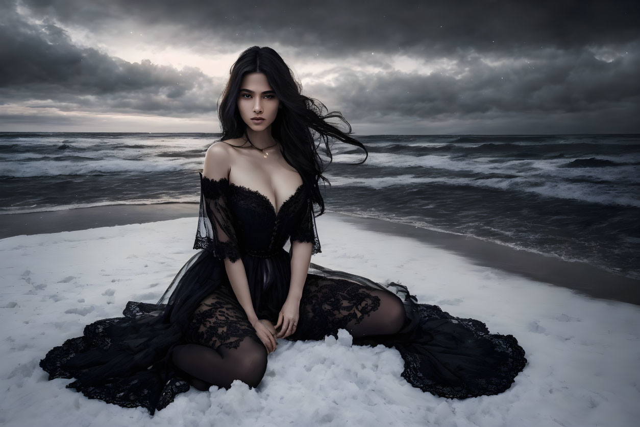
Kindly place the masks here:
<instances>
[{"instance_id":1,"label":"woman with long black hair in black lace dress, sitting on snow","mask_svg":"<svg viewBox=\"0 0 640 427\"><path fill-rule=\"evenodd\" d=\"M401 284L310 263L321 252L313 204L324 213L318 180L327 181L311 131L329 157L329 137L367 153L350 127L326 121L347 123L339 113L322 111L273 49L244 51L218 108L222 140L200 173L202 250L157 304L129 302L124 318L96 321L49 351L40 362L49 379L76 378L68 388L153 415L189 384L256 387L278 339L344 328L354 344L399 350L402 376L423 391L467 398L508 389L527 362L513 336L418 304Z\"/></svg>"}]
</instances>

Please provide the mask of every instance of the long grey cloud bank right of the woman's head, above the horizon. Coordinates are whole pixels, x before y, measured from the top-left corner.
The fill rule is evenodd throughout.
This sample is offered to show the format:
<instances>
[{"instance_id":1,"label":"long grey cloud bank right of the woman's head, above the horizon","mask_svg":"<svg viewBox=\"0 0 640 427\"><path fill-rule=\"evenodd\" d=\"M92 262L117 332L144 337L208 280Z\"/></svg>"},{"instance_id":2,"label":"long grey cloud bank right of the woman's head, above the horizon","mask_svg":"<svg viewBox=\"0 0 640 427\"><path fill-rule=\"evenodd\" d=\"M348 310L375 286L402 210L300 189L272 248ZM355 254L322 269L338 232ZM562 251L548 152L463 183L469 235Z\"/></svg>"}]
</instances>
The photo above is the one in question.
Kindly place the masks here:
<instances>
[{"instance_id":1,"label":"long grey cloud bank right of the woman's head, above the horizon","mask_svg":"<svg viewBox=\"0 0 640 427\"><path fill-rule=\"evenodd\" d=\"M606 63L588 52L572 51L554 61L489 67L471 58L464 65L472 72L458 79L438 72L429 76L398 71L363 75L342 68L331 88L308 85L306 89L321 99L340 93L342 108L358 120L470 117L496 110L571 113L616 106L640 113L639 56Z\"/></svg>"}]
</instances>

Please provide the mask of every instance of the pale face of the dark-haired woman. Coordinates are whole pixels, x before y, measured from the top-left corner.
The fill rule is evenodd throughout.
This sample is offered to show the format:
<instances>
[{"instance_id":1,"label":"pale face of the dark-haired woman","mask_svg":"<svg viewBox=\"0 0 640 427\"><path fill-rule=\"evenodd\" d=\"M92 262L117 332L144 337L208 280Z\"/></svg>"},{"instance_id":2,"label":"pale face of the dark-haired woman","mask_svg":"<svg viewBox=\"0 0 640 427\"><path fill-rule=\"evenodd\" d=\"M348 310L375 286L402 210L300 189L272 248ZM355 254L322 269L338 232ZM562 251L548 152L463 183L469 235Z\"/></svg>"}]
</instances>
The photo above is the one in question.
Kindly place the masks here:
<instances>
[{"instance_id":1,"label":"pale face of the dark-haired woman","mask_svg":"<svg viewBox=\"0 0 640 427\"><path fill-rule=\"evenodd\" d=\"M253 131L264 131L278 115L280 100L269 85L267 76L261 72L252 72L246 74L242 80L237 103L244 123ZM254 121L254 117L263 120Z\"/></svg>"}]
</instances>

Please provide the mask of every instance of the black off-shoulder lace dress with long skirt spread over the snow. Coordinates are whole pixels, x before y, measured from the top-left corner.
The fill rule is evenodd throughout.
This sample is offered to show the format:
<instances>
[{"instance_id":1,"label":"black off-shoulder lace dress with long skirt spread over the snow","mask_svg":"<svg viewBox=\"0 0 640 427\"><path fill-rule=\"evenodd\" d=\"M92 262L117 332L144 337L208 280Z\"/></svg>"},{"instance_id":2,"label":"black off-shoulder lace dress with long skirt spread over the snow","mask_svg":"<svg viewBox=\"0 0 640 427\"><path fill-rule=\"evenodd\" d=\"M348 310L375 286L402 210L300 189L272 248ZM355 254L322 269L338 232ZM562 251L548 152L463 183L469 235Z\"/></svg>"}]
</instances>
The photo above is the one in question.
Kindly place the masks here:
<instances>
[{"instance_id":1,"label":"black off-shoulder lace dress with long skirt spread over the snow","mask_svg":"<svg viewBox=\"0 0 640 427\"><path fill-rule=\"evenodd\" d=\"M154 414L188 391L186 375L172 363L178 344L234 348L243 338L260 342L230 287L223 259L242 259L260 319L275 324L291 277L290 241L311 242L321 252L313 204L298 187L276 213L261 193L200 173L200 216L195 249L157 303L128 302L124 317L100 319L83 336L50 350L40 367L54 378L75 378L67 388L121 407ZM383 344L404 359L414 387L443 398L506 391L527 362L512 335L489 334L484 323L419 304L406 286L379 284L312 263L300 301L296 332L286 339L320 340L349 321L378 309L372 289L399 297L406 312L396 334L354 338L355 345Z\"/></svg>"}]
</instances>

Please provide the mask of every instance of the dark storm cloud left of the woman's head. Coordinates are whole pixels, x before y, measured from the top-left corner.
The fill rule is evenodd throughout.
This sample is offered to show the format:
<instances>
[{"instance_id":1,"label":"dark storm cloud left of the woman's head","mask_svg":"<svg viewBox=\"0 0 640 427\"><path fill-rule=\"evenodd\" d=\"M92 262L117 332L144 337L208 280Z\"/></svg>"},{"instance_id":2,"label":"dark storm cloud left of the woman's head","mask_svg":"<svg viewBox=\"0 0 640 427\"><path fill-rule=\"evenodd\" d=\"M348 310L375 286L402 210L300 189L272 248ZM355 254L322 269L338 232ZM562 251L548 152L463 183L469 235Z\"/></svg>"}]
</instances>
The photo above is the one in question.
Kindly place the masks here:
<instances>
[{"instance_id":1,"label":"dark storm cloud left of the woman's head","mask_svg":"<svg viewBox=\"0 0 640 427\"><path fill-rule=\"evenodd\" d=\"M50 19L29 24L3 10L0 95L3 103L52 99L75 111L205 112L215 109L211 77L193 67L176 70L148 60L130 63L72 43Z\"/></svg>"}]
</instances>

